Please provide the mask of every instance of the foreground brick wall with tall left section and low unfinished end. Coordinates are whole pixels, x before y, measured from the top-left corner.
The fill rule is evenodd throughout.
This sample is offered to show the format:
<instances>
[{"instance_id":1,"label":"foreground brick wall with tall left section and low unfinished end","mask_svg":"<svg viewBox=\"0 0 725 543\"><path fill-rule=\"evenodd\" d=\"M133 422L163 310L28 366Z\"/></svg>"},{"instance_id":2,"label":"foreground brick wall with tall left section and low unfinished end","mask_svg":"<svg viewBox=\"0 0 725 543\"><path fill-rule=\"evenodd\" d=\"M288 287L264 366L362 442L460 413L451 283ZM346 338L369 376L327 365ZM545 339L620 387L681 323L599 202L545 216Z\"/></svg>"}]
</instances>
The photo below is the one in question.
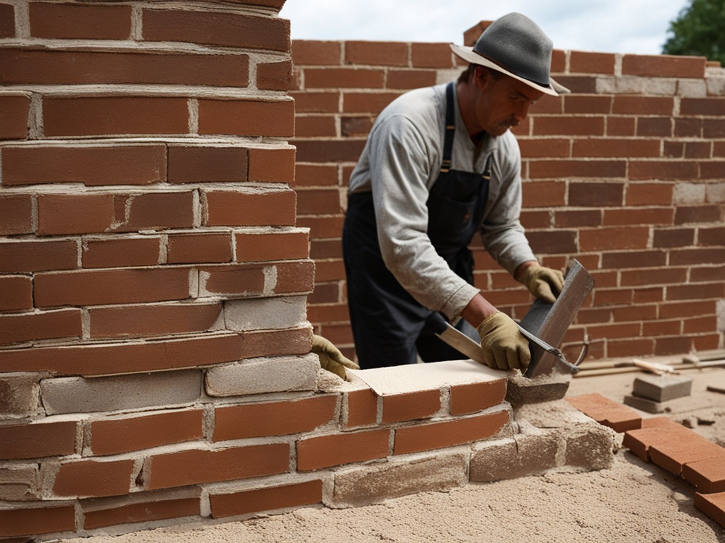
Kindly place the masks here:
<instances>
[{"instance_id":1,"label":"foreground brick wall with tall left section and low unfinished end","mask_svg":"<svg viewBox=\"0 0 725 543\"><path fill-rule=\"evenodd\" d=\"M470 361L320 390L282 4L0 0L0 539L610 462Z\"/></svg>"}]
</instances>

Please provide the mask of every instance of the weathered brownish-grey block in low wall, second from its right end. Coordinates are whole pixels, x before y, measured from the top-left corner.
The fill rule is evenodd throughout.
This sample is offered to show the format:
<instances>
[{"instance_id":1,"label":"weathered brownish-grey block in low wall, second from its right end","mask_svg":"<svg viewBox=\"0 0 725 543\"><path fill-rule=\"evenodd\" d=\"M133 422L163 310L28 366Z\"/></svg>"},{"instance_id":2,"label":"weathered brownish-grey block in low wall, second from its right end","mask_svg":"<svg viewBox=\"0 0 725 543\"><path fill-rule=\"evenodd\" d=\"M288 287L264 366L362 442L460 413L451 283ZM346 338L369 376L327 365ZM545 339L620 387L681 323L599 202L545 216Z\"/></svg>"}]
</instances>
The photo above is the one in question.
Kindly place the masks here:
<instances>
[{"instance_id":1,"label":"weathered brownish-grey block in low wall, second from its right end","mask_svg":"<svg viewBox=\"0 0 725 543\"><path fill-rule=\"evenodd\" d=\"M471 481L518 479L544 473L557 466L559 437L556 432L518 434L478 445L471 452Z\"/></svg>"}]
</instances>

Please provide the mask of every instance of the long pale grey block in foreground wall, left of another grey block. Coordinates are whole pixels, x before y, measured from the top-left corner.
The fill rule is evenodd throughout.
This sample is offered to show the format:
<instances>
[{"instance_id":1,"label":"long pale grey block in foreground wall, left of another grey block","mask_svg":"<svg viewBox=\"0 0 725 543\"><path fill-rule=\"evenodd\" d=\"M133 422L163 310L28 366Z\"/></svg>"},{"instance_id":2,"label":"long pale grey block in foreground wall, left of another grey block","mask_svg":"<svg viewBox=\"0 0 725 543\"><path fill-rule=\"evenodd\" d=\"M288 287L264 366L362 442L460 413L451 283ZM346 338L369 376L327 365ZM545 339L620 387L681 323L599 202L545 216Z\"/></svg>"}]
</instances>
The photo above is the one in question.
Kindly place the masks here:
<instances>
[{"instance_id":1,"label":"long pale grey block in foreground wall, left of another grey block","mask_svg":"<svg viewBox=\"0 0 725 543\"><path fill-rule=\"evenodd\" d=\"M201 394L202 371L196 369L41 381L41 400L49 415L185 405Z\"/></svg>"}]
</instances>

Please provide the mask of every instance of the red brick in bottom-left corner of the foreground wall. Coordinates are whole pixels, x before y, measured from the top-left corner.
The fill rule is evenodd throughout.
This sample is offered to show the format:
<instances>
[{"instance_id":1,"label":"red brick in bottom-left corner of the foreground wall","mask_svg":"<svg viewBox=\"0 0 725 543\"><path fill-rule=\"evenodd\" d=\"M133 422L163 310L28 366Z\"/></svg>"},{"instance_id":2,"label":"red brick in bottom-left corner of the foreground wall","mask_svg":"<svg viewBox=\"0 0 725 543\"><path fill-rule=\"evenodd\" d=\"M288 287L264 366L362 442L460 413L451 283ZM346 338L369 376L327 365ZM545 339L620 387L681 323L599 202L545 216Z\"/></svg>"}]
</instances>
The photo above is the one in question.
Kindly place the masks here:
<instances>
[{"instance_id":1,"label":"red brick in bottom-left corner of the foreground wall","mask_svg":"<svg viewBox=\"0 0 725 543\"><path fill-rule=\"evenodd\" d=\"M73 505L0 510L0 537L35 536L73 530Z\"/></svg>"}]
</instances>

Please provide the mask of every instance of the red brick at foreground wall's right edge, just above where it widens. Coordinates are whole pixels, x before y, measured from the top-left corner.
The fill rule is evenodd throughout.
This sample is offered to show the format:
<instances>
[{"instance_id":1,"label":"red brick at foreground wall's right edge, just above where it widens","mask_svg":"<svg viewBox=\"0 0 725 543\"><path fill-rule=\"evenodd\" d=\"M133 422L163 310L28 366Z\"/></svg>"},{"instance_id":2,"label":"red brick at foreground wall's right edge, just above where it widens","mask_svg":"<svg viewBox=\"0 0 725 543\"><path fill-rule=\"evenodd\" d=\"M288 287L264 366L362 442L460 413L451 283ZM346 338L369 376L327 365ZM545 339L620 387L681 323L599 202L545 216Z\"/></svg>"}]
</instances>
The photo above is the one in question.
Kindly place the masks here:
<instances>
[{"instance_id":1,"label":"red brick at foreground wall's right edge, just above where it widens","mask_svg":"<svg viewBox=\"0 0 725 543\"><path fill-rule=\"evenodd\" d=\"M293 190L265 193L205 193L207 226L294 226L297 198Z\"/></svg>"}]
</instances>

